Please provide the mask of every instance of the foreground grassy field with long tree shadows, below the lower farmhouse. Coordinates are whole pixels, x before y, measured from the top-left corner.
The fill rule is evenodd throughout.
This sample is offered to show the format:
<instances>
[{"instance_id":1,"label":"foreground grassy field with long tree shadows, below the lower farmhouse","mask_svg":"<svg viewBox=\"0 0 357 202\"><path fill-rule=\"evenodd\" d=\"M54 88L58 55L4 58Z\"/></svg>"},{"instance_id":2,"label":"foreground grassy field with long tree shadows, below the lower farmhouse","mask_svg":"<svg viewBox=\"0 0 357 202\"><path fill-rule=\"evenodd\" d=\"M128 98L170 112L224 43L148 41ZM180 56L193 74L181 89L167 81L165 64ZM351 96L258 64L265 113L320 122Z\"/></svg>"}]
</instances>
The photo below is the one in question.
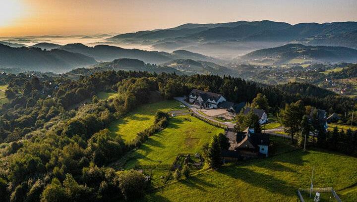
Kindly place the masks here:
<instances>
[{"instance_id":1,"label":"foreground grassy field with long tree shadows, below the lower farmhouse","mask_svg":"<svg viewBox=\"0 0 357 202\"><path fill-rule=\"evenodd\" d=\"M295 150L226 164L218 171L201 170L187 180L175 181L146 195L141 201L296 202L297 189L309 187L313 167L314 187L332 186L338 191L357 182L356 164L357 158L343 154ZM339 194L344 202L357 201L356 190Z\"/></svg>"}]
</instances>

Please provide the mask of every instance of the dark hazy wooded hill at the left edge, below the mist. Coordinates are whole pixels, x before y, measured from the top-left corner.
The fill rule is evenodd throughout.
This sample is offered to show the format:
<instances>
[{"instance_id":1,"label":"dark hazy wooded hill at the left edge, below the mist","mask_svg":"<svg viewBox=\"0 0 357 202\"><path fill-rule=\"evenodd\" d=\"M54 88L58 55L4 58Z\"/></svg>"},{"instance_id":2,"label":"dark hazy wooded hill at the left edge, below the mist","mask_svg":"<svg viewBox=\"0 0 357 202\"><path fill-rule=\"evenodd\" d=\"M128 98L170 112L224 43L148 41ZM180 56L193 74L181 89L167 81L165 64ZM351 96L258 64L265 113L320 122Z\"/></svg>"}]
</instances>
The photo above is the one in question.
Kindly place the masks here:
<instances>
[{"instance_id":1,"label":"dark hazy wooded hill at the left edge, below the mist","mask_svg":"<svg viewBox=\"0 0 357 202\"><path fill-rule=\"evenodd\" d=\"M11 48L0 45L0 67L24 70L65 72L73 68L96 64L88 56L65 50L40 48Z\"/></svg>"}]
</instances>

